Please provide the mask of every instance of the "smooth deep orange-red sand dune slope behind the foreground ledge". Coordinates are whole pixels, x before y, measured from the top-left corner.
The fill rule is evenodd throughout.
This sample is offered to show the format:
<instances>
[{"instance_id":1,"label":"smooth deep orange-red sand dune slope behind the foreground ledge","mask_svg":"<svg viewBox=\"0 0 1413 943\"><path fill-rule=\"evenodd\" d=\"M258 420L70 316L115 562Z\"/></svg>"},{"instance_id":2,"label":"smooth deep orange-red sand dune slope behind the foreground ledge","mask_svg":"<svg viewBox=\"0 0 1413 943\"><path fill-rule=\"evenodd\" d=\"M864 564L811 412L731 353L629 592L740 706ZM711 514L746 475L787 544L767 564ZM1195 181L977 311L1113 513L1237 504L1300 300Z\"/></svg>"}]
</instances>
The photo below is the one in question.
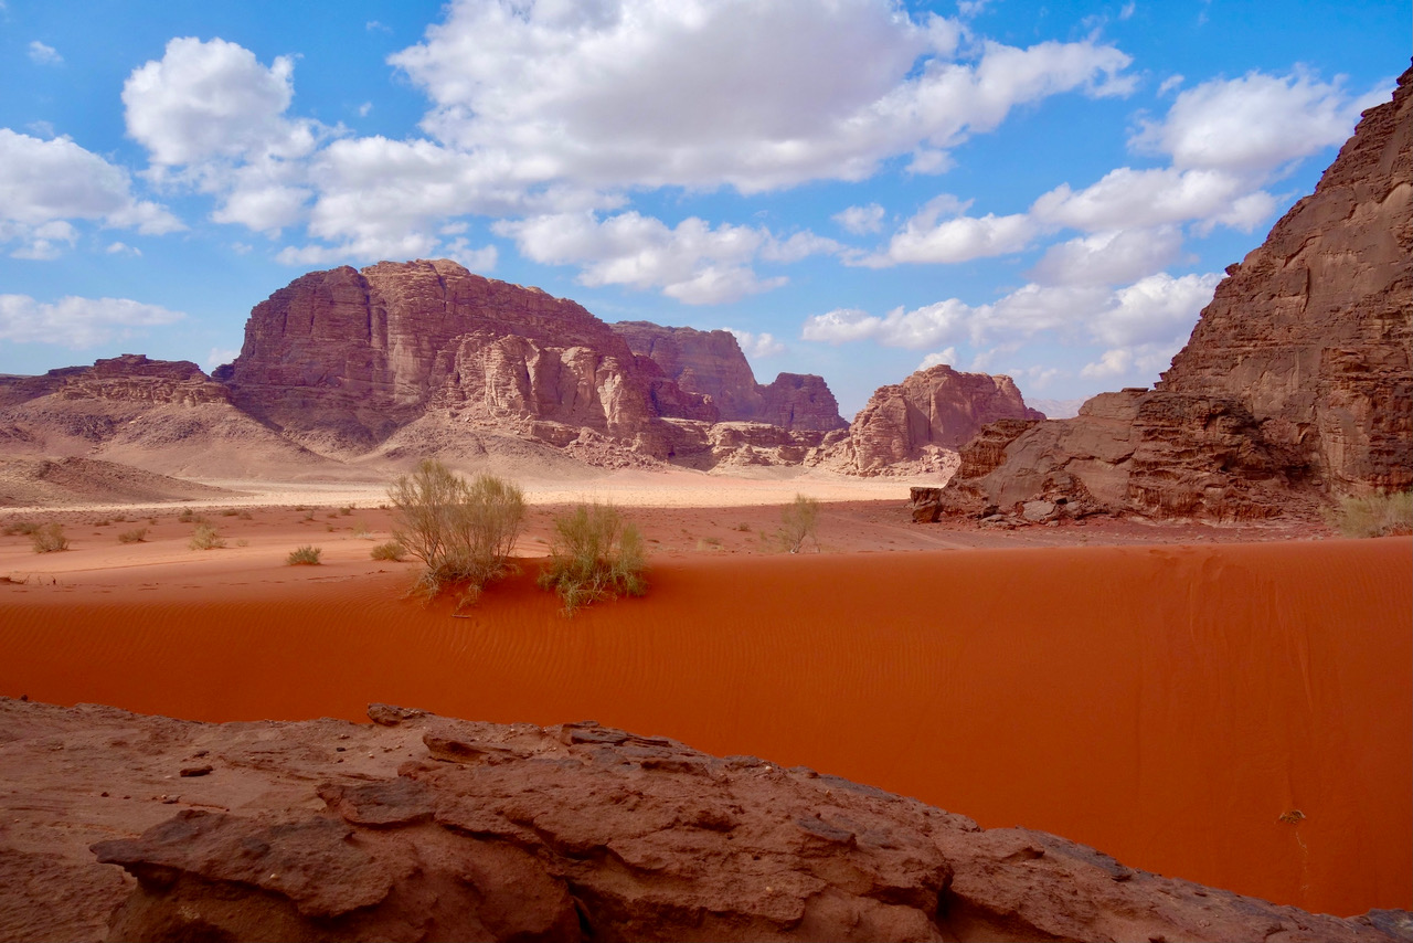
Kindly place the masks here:
<instances>
[{"instance_id":1,"label":"smooth deep orange-red sand dune slope behind the foreground ledge","mask_svg":"<svg viewBox=\"0 0 1413 943\"><path fill-rule=\"evenodd\" d=\"M403 573L0 587L0 693L595 718L1282 903L1413 906L1413 540L673 560L574 619L533 570L469 618Z\"/></svg>"}]
</instances>

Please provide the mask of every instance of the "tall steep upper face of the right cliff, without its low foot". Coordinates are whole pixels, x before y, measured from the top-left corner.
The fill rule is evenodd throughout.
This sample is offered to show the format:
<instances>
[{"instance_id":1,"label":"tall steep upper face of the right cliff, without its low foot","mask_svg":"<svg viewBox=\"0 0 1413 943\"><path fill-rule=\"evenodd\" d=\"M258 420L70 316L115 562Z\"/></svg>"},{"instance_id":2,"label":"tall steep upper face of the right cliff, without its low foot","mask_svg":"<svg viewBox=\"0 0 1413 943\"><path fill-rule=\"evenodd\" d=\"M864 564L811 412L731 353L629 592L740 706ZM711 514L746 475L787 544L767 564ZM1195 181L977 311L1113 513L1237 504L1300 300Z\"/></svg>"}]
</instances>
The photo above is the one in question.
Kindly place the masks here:
<instances>
[{"instance_id":1,"label":"tall steep upper face of the right cliff, without its low foot","mask_svg":"<svg viewBox=\"0 0 1413 943\"><path fill-rule=\"evenodd\" d=\"M1241 400L1334 492L1413 486L1413 69L1228 269L1159 390Z\"/></svg>"}]
</instances>

